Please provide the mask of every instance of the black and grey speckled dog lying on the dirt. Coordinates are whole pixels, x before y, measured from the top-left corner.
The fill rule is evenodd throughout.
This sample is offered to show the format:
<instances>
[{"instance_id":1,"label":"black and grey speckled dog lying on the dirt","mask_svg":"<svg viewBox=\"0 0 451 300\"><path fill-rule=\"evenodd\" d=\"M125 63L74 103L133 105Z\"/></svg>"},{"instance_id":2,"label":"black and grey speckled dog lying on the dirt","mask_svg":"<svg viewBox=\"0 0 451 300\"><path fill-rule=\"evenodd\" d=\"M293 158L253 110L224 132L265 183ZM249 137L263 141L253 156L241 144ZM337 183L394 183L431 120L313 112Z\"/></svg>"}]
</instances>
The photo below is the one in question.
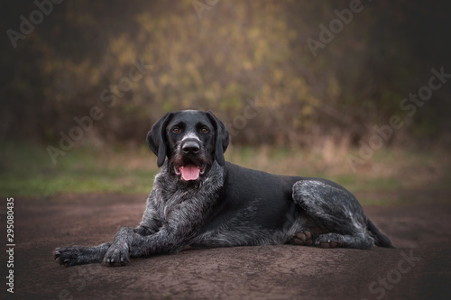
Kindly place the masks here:
<instances>
[{"instance_id":1,"label":"black and grey speckled dog lying on the dirt","mask_svg":"<svg viewBox=\"0 0 451 300\"><path fill-rule=\"evenodd\" d=\"M173 254L187 247L294 245L394 248L343 186L278 176L226 162L226 126L211 111L165 114L147 134L160 173L143 220L113 242L54 250L65 267Z\"/></svg>"}]
</instances>

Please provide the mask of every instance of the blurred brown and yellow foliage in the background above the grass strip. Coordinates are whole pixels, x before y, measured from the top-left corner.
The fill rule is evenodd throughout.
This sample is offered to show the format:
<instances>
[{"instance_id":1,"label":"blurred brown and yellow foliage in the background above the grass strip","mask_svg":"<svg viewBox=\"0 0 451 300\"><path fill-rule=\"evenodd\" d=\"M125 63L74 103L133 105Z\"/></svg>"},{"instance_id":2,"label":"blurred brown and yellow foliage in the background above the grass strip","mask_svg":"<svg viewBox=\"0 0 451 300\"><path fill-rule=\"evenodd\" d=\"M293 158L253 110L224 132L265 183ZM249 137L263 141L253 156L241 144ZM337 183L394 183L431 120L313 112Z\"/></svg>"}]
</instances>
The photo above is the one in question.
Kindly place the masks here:
<instances>
[{"instance_id":1,"label":"blurred brown and yellow foliage in the background above the grass strip","mask_svg":"<svg viewBox=\"0 0 451 300\"><path fill-rule=\"evenodd\" d=\"M207 8L199 13L198 3ZM225 121L236 144L301 147L325 137L357 144L373 133L374 124L386 124L394 114L404 117L400 101L428 83L431 68L444 66L451 73L445 41L451 5L363 1L364 10L314 57L306 40L319 40L318 25L328 26L337 18L334 10L349 4L53 5L16 49L4 36L0 133L59 141L60 131L78 125L74 117L99 106L104 114L89 137L142 142L166 111L195 108L211 109ZM18 31L18 16L28 18L36 9L30 1L1 5L3 32ZM142 64L141 73L136 64ZM390 142L446 140L450 95L448 83ZM246 117L249 112L257 114Z\"/></svg>"}]
</instances>

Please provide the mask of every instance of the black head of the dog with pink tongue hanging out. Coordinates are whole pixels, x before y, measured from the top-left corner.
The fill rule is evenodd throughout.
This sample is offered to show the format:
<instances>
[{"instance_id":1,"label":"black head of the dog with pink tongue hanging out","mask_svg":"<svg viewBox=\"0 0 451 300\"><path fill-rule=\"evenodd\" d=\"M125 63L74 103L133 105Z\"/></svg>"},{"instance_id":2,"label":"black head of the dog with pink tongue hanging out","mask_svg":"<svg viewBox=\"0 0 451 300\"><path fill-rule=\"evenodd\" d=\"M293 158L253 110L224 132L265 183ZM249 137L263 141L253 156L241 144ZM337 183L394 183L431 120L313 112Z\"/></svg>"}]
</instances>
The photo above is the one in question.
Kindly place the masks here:
<instances>
[{"instance_id":1,"label":"black head of the dog with pink tongue hanging out","mask_svg":"<svg viewBox=\"0 0 451 300\"><path fill-rule=\"evenodd\" d=\"M147 143L161 167L168 158L169 171L184 181L207 175L213 162L224 166L229 133L212 112L167 113L147 133Z\"/></svg>"}]
</instances>

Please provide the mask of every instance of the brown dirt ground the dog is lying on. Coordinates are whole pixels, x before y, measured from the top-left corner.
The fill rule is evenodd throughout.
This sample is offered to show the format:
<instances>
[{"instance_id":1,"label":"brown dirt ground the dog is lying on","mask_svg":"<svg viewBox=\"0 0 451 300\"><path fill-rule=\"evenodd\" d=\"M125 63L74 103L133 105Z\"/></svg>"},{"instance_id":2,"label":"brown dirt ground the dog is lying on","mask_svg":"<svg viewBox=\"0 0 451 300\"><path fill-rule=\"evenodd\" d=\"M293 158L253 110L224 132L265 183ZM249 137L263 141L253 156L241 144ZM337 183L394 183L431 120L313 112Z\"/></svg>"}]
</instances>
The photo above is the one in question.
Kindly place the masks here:
<instances>
[{"instance_id":1,"label":"brown dirt ground the dog is lying on","mask_svg":"<svg viewBox=\"0 0 451 300\"><path fill-rule=\"evenodd\" d=\"M6 292L4 282L0 297L449 299L448 194L416 191L402 197L411 197L413 204L364 206L396 250L292 245L185 250L177 255L135 259L123 268L98 264L63 268L55 263L52 250L111 241L119 227L141 221L145 195L14 198L14 295ZM1 209L5 211L5 206ZM5 250L1 258L5 261ZM4 281L5 265L1 267Z\"/></svg>"}]
</instances>

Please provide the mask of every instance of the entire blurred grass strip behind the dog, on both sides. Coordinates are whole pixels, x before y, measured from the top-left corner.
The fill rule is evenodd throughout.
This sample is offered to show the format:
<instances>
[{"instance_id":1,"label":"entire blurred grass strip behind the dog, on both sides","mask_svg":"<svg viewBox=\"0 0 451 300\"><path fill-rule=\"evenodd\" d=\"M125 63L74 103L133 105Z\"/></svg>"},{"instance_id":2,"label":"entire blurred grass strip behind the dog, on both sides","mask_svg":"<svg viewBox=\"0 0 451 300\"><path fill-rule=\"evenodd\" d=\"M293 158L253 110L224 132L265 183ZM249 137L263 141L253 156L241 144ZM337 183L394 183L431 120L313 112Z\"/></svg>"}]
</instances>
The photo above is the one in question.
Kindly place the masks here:
<instances>
[{"instance_id":1,"label":"entire blurred grass strip behind the dog, on both sides","mask_svg":"<svg viewBox=\"0 0 451 300\"><path fill-rule=\"evenodd\" d=\"M44 145L0 144L0 194L51 196L68 193L143 193L152 189L159 171L156 158L146 147L98 150L88 146L69 150L53 164ZM354 151L354 152L353 152ZM355 153L357 150L352 150ZM449 189L449 155L443 150L424 153L411 150L379 150L353 172L344 152L333 158L321 150L235 148L226 159L248 168L274 174L326 177L353 193L364 195L364 204L384 204L375 193L410 189Z\"/></svg>"}]
</instances>

